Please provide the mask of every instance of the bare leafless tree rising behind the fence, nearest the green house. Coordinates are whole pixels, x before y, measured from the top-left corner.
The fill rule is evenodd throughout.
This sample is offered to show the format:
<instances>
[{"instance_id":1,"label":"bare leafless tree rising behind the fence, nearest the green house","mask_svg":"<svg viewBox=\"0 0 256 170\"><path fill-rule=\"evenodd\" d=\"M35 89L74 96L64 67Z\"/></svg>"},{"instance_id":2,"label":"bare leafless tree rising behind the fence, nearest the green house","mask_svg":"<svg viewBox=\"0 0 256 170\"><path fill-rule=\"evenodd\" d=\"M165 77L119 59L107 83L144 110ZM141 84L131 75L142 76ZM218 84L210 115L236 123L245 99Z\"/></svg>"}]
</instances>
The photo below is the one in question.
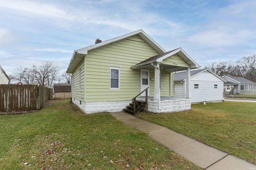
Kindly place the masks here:
<instances>
[{"instance_id":1,"label":"bare leafless tree rising behind the fence, nearest the green house","mask_svg":"<svg viewBox=\"0 0 256 170\"><path fill-rule=\"evenodd\" d=\"M43 86L52 87L52 83L58 77L60 68L58 64L46 61L40 66L33 66L36 81Z\"/></svg>"}]
</instances>

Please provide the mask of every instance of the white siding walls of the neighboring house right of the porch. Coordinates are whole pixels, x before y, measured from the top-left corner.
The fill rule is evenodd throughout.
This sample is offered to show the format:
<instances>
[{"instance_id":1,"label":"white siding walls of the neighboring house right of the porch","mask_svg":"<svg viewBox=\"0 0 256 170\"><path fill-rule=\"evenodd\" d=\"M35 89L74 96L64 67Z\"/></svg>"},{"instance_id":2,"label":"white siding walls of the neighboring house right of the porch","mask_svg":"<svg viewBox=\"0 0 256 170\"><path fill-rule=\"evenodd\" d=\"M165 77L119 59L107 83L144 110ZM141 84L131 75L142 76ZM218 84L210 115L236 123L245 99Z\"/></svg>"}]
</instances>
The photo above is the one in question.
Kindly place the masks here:
<instances>
[{"instance_id":1,"label":"white siding walls of the neighboring house right of the porch","mask_svg":"<svg viewBox=\"0 0 256 170\"><path fill-rule=\"evenodd\" d=\"M184 82L186 83L186 81ZM181 82L174 82L175 84L175 97L183 96L183 84ZM194 88L194 84L198 84L198 89ZM214 88L214 84L218 85L218 88ZM190 79L191 88L191 102L203 102L203 101L220 101L223 100L223 88L224 82L210 72L202 72L193 76ZM184 86L184 92L186 92L186 86Z\"/></svg>"}]
</instances>

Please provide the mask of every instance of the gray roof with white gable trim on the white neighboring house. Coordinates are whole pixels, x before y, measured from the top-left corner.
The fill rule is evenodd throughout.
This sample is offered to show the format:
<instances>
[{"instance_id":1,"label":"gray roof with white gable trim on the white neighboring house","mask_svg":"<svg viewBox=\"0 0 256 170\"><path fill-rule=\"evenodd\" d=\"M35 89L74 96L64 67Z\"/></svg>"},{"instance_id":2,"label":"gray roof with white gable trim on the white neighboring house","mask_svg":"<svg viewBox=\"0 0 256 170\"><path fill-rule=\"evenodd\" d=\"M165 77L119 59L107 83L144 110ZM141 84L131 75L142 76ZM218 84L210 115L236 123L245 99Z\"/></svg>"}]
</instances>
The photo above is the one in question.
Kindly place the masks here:
<instances>
[{"instance_id":1,"label":"gray roof with white gable trim on the white neighboring house","mask_svg":"<svg viewBox=\"0 0 256 170\"><path fill-rule=\"evenodd\" d=\"M208 71L212 74L214 74L214 76L218 77L220 80L222 80L223 82L226 82L223 78L221 78L220 76L218 76L217 74L215 74L214 72L212 72L210 69L206 68L206 69L200 69L200 70L190 70L190 77L194 77L202 72ZM174 81L185 81L186 80L186 72L177 72L173 74L173 80Z\"/></svg>"}]
</instances>

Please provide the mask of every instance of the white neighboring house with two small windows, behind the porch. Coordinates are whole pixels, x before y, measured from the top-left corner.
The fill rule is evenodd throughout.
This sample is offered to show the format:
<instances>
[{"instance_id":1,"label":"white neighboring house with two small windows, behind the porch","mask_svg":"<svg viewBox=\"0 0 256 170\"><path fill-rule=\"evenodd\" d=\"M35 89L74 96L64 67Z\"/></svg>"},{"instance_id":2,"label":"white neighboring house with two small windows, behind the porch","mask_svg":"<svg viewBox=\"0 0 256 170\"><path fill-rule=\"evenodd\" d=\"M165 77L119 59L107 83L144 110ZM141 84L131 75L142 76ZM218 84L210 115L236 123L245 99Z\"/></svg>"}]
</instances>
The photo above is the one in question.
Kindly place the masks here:
<instances>
[{"instance_id":1,"label":"white neighboring house with two small windows, behind the porch","mask_svg":"<svg viewBox=\"0 0 256 170\"><path fill-rule=\"evenodd\" d=\"M174 97L184 97L186 72L174 73ZM191 103L223 101L222 78L209 69L190 71Z\"/></svg>"}]
</instances>

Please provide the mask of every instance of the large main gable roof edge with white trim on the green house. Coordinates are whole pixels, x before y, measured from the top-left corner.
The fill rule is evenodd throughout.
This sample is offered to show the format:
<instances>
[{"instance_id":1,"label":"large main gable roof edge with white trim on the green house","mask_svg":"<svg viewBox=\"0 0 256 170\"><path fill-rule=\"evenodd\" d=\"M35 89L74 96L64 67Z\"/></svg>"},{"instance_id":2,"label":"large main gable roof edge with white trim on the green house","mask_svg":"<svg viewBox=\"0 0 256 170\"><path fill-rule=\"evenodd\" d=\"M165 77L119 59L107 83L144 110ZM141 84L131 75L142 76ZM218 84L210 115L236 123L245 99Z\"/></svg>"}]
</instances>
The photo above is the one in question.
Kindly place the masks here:
<instances>
[{"instance_id":1,"label":"large main gable roof edge with white trim on the green house","mask_svg":"<svg viewBox=\"0 0 256 170\"><path fill-rule=\"evenodd\" d=\"M72 73L74 71L74 69L76 68L76 66L78 66L78 64L80 64L80 62L87 55L88 51L90 51L92 49L102 47L102 46L105 46L105 45L108 45L110 43L114 43L116 41L120 41L122 39L126 39L128 37L132 37L134 35L140 36L144 41L146 41L146 43L148 43L148 45L150 45L158 53L163 54L163 53L166 52L162 47L160 47L160 45L158 45L158 43L156 43L142 29L140 29L138 31L134 31L132 33L128 33L128 34L122 35L120 37L109 39L109 40L103 41L103 42L98 43L98 44L90 45L88 47L84 47L82 49L75 50L66 72L67 73Z\"/></svg>"}]
</instances>

